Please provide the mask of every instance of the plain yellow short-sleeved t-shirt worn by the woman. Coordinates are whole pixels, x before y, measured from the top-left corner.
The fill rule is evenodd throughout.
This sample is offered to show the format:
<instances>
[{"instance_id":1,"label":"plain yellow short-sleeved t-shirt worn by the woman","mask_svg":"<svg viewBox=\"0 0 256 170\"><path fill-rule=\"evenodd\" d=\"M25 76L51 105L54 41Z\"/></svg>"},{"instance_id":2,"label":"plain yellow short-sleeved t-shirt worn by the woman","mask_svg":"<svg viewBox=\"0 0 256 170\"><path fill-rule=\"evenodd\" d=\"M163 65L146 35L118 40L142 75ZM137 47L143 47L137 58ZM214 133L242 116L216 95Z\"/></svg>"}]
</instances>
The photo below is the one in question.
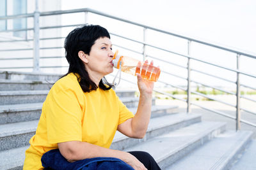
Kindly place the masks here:
<instances>
[{"instance_id":1,"label":"plain yellow short-sleeved t-shirt worn by the woman","mask_svg":"<svg viewBox=\"0 0 256 170\"><path fill-rule=\"evenodd\" d=\"M84 93L76 75L70 73L56 81L45 99L23 168L43 169L42 155L65 141L109 148L117 126L132 117L114 90L98 88Z\"/></svg>"}]
</instances>

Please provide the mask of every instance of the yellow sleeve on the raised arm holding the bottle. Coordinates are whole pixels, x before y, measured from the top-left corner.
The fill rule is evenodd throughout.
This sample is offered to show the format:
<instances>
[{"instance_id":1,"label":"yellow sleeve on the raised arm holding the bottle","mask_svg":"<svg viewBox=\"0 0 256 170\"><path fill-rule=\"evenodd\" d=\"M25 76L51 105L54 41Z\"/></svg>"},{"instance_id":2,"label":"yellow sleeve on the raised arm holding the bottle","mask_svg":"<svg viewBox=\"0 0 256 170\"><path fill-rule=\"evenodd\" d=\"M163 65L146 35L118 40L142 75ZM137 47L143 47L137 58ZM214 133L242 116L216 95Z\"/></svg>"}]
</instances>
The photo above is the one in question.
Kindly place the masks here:
<instances>
[{"instance_id":1,"label":"yellow sleeve on the raised arm holding the bottle","mask_svg":"<svg viewBox=\"0 0 256 170\"><path fill-rule=\"evenodd\" d=\"M117 96L116 96L117 97ZM124 123L127 119L133 118L134 115L131 111L128 110L128 108L120 101L119 97L118 99L118 106L119 106L119 120L118 125Z\"/></svg>"}]
</instances>

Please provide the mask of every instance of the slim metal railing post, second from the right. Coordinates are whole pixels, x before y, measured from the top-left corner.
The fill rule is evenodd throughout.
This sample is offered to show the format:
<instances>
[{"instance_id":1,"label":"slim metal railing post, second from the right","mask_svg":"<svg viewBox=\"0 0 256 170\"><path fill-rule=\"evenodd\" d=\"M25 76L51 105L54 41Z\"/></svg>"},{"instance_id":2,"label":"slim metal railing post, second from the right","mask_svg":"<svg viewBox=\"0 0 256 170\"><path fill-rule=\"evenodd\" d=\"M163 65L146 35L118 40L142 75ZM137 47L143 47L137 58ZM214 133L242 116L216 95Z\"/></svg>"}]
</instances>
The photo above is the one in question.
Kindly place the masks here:
<instances>
[{"instance_id":1,"label":"slim metal railing post, second from the right","mask_svg":"<svg viewBox=\"0 0 256 170\"><path fill-rule=\"evenodd\" d=\"M190 103L190 95L191 95L191 80L190 80L190 74L191 74L191 68L190 68L190 46L191 46L191 40L188 40L188 89L187 89L187 113L191 112L191 103Z\"/></svg>"}]
</instances>

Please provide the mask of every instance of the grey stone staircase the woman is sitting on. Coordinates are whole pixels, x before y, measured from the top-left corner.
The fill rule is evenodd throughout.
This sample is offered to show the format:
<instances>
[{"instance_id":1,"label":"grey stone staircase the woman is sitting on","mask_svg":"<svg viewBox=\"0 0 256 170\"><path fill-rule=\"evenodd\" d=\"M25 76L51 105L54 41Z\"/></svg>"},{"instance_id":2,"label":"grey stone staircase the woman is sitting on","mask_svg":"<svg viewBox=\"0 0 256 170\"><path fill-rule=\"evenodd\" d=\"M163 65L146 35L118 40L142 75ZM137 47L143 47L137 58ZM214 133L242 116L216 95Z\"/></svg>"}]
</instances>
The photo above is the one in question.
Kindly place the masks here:
<instances>
[{"instance_id":1,"label":"grey stone staircase the woman is sitting on","mask_svg":"<svg viewBox=\"0 0 256 170\"><path fill-rule=\"evenodd\" d=\"M0 169L22 169L42 103L60 76L0 71ZM134 93L116 90L133 113L138 106ZM116 132L111 148L146 151L162 169L256 169L251 131L225 131L223 122L202 122L198 114L178 113L177 106L157 106L156 99L152 103L145 138Z\"/></svg>"}]
</instances>

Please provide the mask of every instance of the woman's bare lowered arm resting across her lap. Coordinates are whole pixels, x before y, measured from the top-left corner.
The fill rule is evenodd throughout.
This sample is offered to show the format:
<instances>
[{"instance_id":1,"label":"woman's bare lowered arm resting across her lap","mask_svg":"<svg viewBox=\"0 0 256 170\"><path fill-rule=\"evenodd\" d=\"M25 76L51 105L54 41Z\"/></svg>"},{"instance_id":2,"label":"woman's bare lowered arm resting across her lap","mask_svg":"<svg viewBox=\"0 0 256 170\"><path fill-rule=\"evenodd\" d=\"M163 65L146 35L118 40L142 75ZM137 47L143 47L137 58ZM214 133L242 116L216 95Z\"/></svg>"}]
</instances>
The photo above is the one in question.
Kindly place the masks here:
<instances>
[{"instance_id":1,"label":"woman's bare lowered arm resting across her lap","mask_svg":"<svg viewBox=\"0 0 256 170\"><path fill-rule=\"evenodd\" d=\"M68 162L90 159L94 157L115 157L123 160L134 169L146 169L145 166L138 159L136 159L136 157L127 152L111 150L81 141L58 143L58 147L61 155L63 155Z\"/></svg>"}]
</instances>

